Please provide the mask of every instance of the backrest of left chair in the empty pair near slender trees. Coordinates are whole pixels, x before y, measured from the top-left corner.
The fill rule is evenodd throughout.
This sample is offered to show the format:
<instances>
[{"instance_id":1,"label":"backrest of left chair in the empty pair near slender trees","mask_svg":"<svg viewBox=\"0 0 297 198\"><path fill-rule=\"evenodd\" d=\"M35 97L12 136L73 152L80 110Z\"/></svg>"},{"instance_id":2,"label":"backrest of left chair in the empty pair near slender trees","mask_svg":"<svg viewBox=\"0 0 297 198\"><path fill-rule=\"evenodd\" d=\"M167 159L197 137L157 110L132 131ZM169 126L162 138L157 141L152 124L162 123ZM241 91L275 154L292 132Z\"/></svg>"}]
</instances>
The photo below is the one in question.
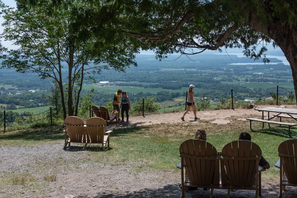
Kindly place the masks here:
<instances>
[{"instance_id":1,"label":"backrest of left chair in the empty pair near slender trees","mask_svg":"<svg viewBox=\"0 0 297 198\"><path fill-rule=\"evenodd\" d=\"M86 132L84 130L84 122L76 116L68 116L64 120L65 130L71 141L79 142L86 139Z\"/></svg>"}]
</instances>

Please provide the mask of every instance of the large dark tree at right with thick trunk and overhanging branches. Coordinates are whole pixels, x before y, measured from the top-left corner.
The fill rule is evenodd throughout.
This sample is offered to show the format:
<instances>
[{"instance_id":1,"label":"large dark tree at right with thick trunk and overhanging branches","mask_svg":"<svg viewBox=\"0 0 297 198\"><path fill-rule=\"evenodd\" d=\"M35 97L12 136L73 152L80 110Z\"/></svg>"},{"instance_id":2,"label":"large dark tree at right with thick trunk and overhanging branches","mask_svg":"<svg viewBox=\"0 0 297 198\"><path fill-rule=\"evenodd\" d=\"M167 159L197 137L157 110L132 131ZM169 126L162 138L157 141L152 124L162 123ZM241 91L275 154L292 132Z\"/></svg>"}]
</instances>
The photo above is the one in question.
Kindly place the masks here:
<instances>
[{"instance_id":1,"label":"large dark tree at right with thick trunk and overhanging branches","mask_svg":"<svg viewBox=\"0 0 297 198\"><path fill-rule=\"evenodd\" d=\"M133 5L125 7L123 33L142 49L155 50L159 60L171 53L237 47L267 63L266 44L272 42L290 63L297 98L297 1L135 0Z\"/></svg>"}]
</instances>

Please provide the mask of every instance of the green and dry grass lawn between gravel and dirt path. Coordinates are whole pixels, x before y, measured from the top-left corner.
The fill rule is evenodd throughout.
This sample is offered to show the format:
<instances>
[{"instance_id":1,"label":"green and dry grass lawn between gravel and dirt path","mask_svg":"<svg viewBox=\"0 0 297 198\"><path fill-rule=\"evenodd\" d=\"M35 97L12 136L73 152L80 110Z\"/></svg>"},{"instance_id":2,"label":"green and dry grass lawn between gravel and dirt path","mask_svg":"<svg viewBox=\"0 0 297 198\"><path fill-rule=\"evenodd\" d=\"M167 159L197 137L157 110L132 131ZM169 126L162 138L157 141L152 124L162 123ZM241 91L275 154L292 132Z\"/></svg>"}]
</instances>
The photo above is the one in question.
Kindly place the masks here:
<instances>
[{"instance_id":1,"label":"green and dry grass lawn between gravel and dirt path","mask_svg":"<svg viewBox=\"0 0 297 198\"><path fill-rule=\"evenodd\" d=\"M260 128L260 124L254 127ZM271 168L263 175L273 179L279 177L279 170L274 167L279 159L277 148L282 141L289 139L289 136L274 129L251 132L249 126L238 121L236 117L226 125L211 124L209 120L201 120L198 127L192 124L176 123L115 129L111 133L111 149L104 152L94 152L94 150L83 152L87 152L88 160L94 162L106 162L110 165L141 162L143 166L152 169L179 171L176 169L176 165L180 162L179 146L184 140L193 138L197 129L206 130L207 141L213 144L217 151L222 151L223 146L230 141L237 140L240 132L249 132L252 135L252 141L260 146L263 156L271 165ZM284 130L287 128L284 127ZM291 130L297 133L296 129ZM62 149L64 146L62 124L0 133L1 146L19 147L42 144L61 144ZM67 166L67 162L64 163Z\"/></svg>"}]
</instances>

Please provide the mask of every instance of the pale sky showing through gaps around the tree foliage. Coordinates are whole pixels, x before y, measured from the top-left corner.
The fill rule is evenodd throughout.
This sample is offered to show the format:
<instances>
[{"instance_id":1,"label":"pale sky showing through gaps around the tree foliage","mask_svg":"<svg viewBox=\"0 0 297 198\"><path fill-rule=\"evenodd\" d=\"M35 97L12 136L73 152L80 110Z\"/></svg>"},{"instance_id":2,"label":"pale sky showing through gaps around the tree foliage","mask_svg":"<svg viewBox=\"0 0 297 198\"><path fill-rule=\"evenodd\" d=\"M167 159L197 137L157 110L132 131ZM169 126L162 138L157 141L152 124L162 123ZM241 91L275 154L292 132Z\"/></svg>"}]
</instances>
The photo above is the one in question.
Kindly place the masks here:
<instances>
[{"instance_id":1,"label":"pale sky showing through gaps around the tree foliage","mask_svg":"<svg viewBox=\"0 0 297 198\"><path fill-rule=\"evenodd\" d=\"M14 0L1 0L4 4L10 6L10 7L16 7L16 2ZM3 18L0 17L0 24L3 23ZM3 27L0 26L0 33L3 32ZM8 47L9 49L17 49L18 47L17 46L13 46L12 45L12 42L11 41L4 41L2 40L1 41L1 44L4 46L4 47ZM272 44L268 44L268 46L266 46L267 49L268 49L268 52L271 52L271 51L279 51L281 50L279 47L274 49ZM207 50L206 50L207 51ZM205 52L206 52L205 51ZM242 49L238 49L238 48L235 48L235 49L226 49L227 53L242 53ZM223 49L223 52L222 53L226 53L225 49ZM203 53L205 53L203 52ZM201 54L203 54L201 53ZM209 50L208 52L206 53L219 53L218 51L211 51ZM141 50L140 51L140 54L154 54L153 51L143 51Z\"/></svg>"}]
</instances>

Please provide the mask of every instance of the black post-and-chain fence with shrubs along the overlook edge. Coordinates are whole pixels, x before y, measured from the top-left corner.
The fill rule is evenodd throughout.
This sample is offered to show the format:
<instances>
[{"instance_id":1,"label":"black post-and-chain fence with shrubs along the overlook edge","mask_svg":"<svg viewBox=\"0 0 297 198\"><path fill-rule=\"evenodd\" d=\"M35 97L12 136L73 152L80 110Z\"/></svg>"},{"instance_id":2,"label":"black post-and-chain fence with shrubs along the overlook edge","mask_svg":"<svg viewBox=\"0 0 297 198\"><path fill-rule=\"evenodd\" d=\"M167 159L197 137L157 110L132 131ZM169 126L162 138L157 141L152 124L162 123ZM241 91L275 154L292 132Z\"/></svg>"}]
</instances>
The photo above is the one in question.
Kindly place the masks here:
<instances>
[{"instance_id":1,"label":"black post-and-chain fence with shrubs along the overlook edge","mask_svg":"<svg viewBox=\"0 0 297 198\"><path fill-rule=\"evenodd\" d=\"M273 90L276 89L276 93ZM269 90L261 91L261 92L253 92L253 93L244 93L244 92L237 92L230 90L230 92L223 92L215 95L195 95L198 97L195 99L196 108L199 110L203 109L229 109L229 108L243 108L247 107L249 103L256 103L256 104L283 104L283 103L292 103L296 104L295 92L294 89L284 88L284 87L274 87ZM269 92L272 96L272 99L269 100L267 97L263 96L263 93ZM233 94L235 93L235 94ZM253 98L252 95L259 95L262 94L263 97L260 98ZM159 107L159 111L163 112L177 112L181 111L183 108L187 110L187 95L182 94L176 98L173 98L170 101L170 105L166 107ZM210 101L209 98L214 98L217 96L222 96L220 99L216 98L216 101ZM180 100L179 98L186 97L184 100ZM200 97L200 98L199 98ZM201 98L202 97L202 98ZM178 100L179 99L179 100ZM172 104L175 101L175 104ZM150 104L148 104L150 105ZM142 114L144 117L145 108L148 109L149 107L145 107L145 99L142 98ZM89 106L89 116L93 116L93 112L91 110L91 105ZM53 124L61 124L63 122L63 116L56 116L52 114L52 107L50 107L47 111L32 114L32 115L17 115L13 114L10 111L6 112L4 110L3 113L0 113L0 129L4 128L4 132L6 131L7 127L15 128L15 129L26 129L32 126L45 126L45 125L53 125Z\"/></svg>"}]
</instances>

